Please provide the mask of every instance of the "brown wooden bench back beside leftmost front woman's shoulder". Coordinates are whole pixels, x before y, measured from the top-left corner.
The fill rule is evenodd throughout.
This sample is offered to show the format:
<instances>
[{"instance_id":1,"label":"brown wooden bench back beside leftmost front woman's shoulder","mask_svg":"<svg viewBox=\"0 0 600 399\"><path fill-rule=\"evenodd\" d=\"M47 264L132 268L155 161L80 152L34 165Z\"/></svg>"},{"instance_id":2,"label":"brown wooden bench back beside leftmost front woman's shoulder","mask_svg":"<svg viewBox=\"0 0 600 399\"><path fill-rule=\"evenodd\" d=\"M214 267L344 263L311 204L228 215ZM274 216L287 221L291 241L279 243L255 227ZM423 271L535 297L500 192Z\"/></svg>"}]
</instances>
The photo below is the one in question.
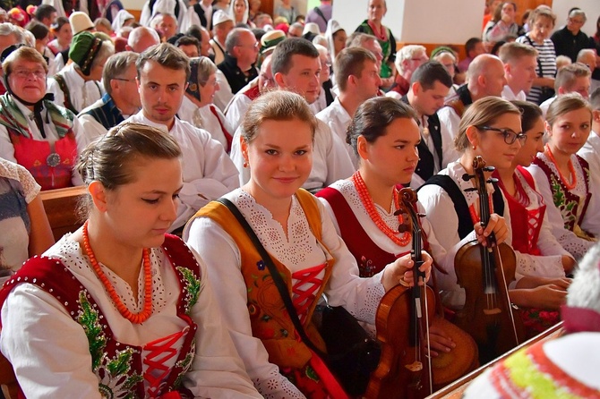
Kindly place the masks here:
<instances>
[{"instance_id":1,"label":"brown wooden bench back beside leftmost front woman's shoulder","mask_svg":"<svg viewBox=\"0 0 600 399\"><path fill-rule=\"evenodd\" d=\"M77 204L86 192L85 186L78 186L39 193L56 241L64 233L74 232L81 226L77 215Z\"/></svg>"}]
</instances>

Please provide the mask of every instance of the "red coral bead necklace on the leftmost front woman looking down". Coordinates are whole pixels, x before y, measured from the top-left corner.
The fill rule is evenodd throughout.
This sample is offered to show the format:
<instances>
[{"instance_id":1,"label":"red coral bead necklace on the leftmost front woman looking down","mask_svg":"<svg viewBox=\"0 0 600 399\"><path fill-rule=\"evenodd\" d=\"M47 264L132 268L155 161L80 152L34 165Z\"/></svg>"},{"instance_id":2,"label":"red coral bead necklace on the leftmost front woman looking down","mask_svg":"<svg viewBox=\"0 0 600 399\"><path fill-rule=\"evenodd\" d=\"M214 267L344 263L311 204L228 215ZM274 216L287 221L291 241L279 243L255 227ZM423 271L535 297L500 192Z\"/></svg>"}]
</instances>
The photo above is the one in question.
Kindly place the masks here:
<instances>
[{"instance_id":1,"label":"red coral bead necklace on the leftmost front woman looking down","mask_svg":"<svg viewBox=\"0 0 600 399\"><path fill-rule=\"evenodd\" d=\"M110 283L107 275L105 275L102 271L102 268L96 259L96 255L94 255L94 251L91 250L90 237L88 236L88 221L83 224L83 248L88 258L90 258L91 267L96 272L96 275L98 276L100 282L102 282L104 285L104 288L106 288L108 295L110 295L110 299L115 302L116 309L119 310L119 313L121 313L124 318L135 324L143 323L150 318L150 315L152 314L152 275L150 272L150 249L144 248L142 251L144 266L144 308L140 313L132 313L127 309L123 301L121 301L121 298L119 298L115 287L112 283Z\"/></svg>"}]
</instances>

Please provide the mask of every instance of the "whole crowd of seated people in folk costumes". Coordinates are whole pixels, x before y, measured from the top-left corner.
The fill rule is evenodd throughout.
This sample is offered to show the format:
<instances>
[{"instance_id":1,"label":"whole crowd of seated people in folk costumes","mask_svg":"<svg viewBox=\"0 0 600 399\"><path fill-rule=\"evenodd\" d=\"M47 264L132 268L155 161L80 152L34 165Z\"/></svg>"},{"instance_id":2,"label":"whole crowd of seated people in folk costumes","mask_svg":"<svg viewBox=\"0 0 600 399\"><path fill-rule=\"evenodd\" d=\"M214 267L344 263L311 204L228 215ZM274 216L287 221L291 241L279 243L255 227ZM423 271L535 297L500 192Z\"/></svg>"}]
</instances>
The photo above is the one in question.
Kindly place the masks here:
<instances>
[{"instance_id":1,"label":"whole crowd of seated people in folk costumes","mask_svg":"<svg viewBox=\"0 0 600 399\"><path fill-rule=\"evenodd\" d=\"M30 3L0 9L0 351L25 396L350 397L321 356L323 298L374 337L386 293L430 284L459 323L471 242L510 248L523 337L561 317L578 334L467 397L597 341L600 17L587 37L579 8L556 29L548 6L519 23L488 1L461 59L397 48L385 0L357 27L332 0L148 0L140 21L118 0ZM39 192L73 186L83 225L55 242ZM459 344L428 335L433 357ZM501 354L474 338L482 363ZM554 385L600 395L582 356Z\"/></svg>"}]
</instances>

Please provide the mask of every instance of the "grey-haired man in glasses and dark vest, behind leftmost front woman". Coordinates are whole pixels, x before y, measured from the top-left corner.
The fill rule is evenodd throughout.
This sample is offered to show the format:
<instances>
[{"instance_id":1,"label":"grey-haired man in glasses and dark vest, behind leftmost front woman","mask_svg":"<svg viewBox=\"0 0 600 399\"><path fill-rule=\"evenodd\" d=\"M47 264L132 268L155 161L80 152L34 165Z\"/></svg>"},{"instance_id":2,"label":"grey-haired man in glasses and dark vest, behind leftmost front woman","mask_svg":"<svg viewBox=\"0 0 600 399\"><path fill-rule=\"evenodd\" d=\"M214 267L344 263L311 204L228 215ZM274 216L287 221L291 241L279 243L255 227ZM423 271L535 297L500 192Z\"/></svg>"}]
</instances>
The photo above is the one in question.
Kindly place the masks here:
<instances>
[{"instance_id":1,"label":"grey-haired man in glasses and dark vest, behind leftmost front woman","mask_svg":"<svg viewBox=\"0 0 600 399\"><path fill-rule=\"evenodd\" d=\"M124 51L108 58L102 73L106 94L80 115L77 115L83 130L90 139L102 136L113 126L140 111L140 93L135 78L135 62L138 54Z\"/></svg>"}]
</instances>

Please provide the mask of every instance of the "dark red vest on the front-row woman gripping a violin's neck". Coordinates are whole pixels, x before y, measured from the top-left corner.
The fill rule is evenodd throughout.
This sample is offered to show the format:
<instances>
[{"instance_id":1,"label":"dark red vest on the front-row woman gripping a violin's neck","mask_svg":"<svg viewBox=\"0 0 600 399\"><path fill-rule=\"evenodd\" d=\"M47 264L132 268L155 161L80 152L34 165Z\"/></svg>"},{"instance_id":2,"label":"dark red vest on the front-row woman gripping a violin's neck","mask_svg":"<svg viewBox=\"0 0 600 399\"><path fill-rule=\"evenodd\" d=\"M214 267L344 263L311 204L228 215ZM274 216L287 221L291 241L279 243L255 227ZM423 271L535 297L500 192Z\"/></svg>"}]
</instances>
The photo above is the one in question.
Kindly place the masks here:
<instances>
[{"instance_id":1,"label":"dark red vest on the front-row woman gripping a violin's neck","mask_svg":"<svg viewBox=\"0 0 600 399\"><path fill-rule=\"evenodd\" d=\"M317 197L324 198L330 203L338 220L339 235L346 242L348 250L354 255L361 277L374 276L381 272L386 265L396 260L393 253L381 250L364 231L341 192L331 187L325 187L319 191ZM400 254L400 256L402 255L404 253Z\"/></svg>"}]
</instances>

